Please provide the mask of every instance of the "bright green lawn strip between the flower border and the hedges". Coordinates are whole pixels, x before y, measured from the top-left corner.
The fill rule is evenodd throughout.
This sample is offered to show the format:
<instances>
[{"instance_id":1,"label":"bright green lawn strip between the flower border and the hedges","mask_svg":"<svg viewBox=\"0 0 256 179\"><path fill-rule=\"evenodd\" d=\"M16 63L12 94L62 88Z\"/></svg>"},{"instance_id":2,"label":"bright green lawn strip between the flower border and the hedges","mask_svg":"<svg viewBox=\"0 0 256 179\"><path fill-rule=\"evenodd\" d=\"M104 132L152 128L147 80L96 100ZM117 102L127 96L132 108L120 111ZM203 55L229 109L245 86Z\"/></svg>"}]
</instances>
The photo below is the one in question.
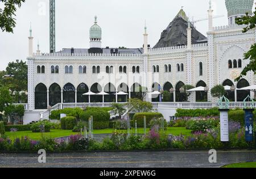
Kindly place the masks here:
<instances>
[{"instance_id":1,"label":"bright green lawn strip between the flower border and the hedges","mask_svg":"<svg viewBox=\"0 0 256 179\"><path fill-rule=\"evenodd\" d=\"M118 130L122 133L126 133L126 130ZM147 129L147 132L149 131L149 129ZM102 130L93 130L93 134L111 134L113 133L113 129L102 129ZM131 129L130 133L135 133L135 129ZM137 133L138 134L143 134L144 133L144 129L143 128L139 128L137 129ZM73 133L72 130L60 130L60 129L54 129L51 130L51 132L49 133L44 133L44 135L47 138L57 138L57 137L65 137L65 136L69 136L69 135L75 135L75 134L79 134L79 133ZM191 130L187 130L185 129L185 127L168 127L166 134L172 134L172 135L191 135ZM10 139L13 138L17 138L17 137L29 137L30 139L33 140L38 140L40 138L42 138L42 134L41 133L32 133L32 131L17 131L15 133L11 133L11 132L6 132L6 135L8 135L10 137Z\"/></svg>"}]
</instances>

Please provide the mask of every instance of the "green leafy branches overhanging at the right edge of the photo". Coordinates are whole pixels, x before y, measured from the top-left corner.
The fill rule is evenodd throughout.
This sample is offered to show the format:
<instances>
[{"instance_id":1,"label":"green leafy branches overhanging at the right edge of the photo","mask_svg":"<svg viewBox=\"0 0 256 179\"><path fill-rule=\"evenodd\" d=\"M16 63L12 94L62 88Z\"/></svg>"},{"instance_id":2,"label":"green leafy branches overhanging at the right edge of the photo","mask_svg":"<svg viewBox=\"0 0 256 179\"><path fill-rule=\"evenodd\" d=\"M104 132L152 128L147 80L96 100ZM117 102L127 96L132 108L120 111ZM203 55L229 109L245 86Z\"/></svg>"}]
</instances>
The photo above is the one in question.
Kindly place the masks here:
<instances>
[{"instance_id":1,"label":"green leafy branches overhanging at the right edge of the photo","mask_svg":"<svg viewBox=\"0 0 256 179\"><path fill-rule=\"evenodd\" d=\"M256 24L256 11L253 12L252 16L249 15L249 13L246 13L246 15L242 16L242 18L237 18L236 23L239 25L242 25L242 24L247 25L245 28L243 28L243 31L242 31L243 33L246 33L250 29L254 29ZM246 74L249 71L253 71L254 75L256 75L256 44L251 45L250 50L244 54L244 59L250 59L250 62L242 70L241 75L238 76L236 81L240 80L242 76L246 76Z\"/></svg>"}]
</instances>

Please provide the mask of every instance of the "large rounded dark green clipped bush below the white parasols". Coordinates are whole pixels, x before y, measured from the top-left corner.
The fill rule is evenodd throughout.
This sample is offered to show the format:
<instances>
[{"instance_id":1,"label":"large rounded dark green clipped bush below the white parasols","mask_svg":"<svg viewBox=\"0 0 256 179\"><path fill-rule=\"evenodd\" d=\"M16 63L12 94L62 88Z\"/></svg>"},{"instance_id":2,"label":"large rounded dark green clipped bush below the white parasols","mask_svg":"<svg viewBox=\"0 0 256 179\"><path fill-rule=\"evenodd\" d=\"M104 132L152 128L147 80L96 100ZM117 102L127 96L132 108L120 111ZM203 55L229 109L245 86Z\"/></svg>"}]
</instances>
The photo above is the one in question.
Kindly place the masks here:
<instances>
[{"instance_id":1,"label":"large rounded dark green clipped bush below the white parasols","mask_svg":"<svg viewBox=\"0 0 256 179\"><path fill-rule=\"evenodd\" d=\"M80 113L80 119L88 122L88 119L93 116L93 129L108 129L110 114L105 109L90 108Z\"/></svg>"}]
</instances>

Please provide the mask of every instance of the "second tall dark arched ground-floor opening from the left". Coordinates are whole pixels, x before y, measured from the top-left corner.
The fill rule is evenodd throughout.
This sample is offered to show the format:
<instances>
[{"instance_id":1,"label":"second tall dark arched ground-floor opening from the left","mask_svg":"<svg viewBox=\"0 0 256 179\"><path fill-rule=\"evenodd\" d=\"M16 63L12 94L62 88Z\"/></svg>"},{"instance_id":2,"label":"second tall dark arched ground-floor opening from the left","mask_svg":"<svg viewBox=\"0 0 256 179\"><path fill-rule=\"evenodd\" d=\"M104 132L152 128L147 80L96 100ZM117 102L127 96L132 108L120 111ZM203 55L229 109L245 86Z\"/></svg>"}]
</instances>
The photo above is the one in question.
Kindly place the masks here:
<instances>
[{"instance_id":1,"label":"second tall dark arched ground-floor opening from the left","mask_svg":"<svg viewBox=\"0 0 256 179\"><path fill-rule=\"evenodd\" d=\"M49 105L54 106L61 103L61 89L59 84L53 83L49 87Z\"/></svg>"}]
</instances>

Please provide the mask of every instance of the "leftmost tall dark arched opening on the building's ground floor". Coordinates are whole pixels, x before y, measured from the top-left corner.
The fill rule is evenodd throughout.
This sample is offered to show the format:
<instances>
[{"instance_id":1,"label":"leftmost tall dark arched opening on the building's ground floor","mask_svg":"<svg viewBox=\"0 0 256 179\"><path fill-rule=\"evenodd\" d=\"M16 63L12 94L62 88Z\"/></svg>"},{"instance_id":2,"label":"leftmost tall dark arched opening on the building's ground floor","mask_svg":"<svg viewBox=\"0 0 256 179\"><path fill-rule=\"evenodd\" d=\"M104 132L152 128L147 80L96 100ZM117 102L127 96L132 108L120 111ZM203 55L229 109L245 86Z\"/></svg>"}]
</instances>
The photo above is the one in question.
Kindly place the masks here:
<instances>
[{"instance_id":1,"label":"leftmost tall dark arched opening on the building's ground floor","mask_svg":"<svg viewBox=\"0 0 256 179\"><path fill-rule=\"evenodd\" d=\"M35 109L47 109L47 88L43 83L35 87Z\"/></svg>"}]
</instances>

